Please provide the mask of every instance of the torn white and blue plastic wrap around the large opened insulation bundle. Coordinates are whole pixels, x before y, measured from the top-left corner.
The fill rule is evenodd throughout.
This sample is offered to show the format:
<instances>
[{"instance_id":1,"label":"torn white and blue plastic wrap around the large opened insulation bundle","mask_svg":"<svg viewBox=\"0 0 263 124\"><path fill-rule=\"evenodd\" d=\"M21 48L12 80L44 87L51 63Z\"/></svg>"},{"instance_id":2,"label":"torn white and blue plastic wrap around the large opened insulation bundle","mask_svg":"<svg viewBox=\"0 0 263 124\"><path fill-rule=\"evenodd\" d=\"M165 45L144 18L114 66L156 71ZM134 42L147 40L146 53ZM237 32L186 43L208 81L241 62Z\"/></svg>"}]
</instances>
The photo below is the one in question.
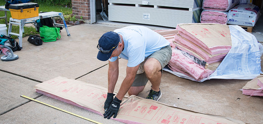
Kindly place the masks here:
<instances>
[{"instance_id":1,"label":"torn white and blue plastic wrap around the large opened insulation bundle","mask_svg":"<svg viewBox=\"0 0 263 124\"><path fill-rule=\"evenodd\" d=\"M229 25L232 40L232 48L223 59L218 68L209 77L196 81L185 74L173 72L170 69L163 70L178 77L196 82L208 79L253 79L261 72L262 45L257 42L254 35L246 32L238 25ZM261 48L261 49L260 49Z\"/></svg>"}]
</instances>

